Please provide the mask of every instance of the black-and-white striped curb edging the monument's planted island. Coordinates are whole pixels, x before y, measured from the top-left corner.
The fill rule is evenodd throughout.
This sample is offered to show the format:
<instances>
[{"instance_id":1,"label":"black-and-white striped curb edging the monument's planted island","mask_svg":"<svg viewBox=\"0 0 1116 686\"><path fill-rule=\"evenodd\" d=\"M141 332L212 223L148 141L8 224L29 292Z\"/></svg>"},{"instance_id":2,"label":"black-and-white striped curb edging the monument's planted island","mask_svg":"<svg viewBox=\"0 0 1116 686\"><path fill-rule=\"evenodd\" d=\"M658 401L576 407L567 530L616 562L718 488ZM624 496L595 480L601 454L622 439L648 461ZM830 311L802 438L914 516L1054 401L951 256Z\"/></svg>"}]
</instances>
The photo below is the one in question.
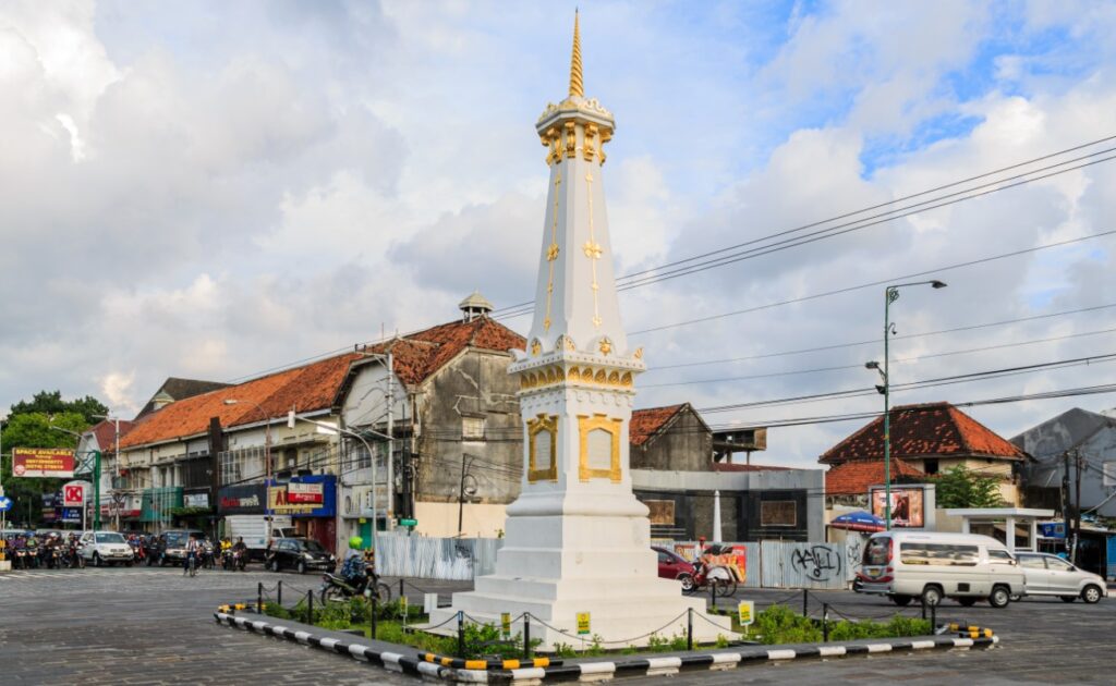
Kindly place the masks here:
<instances>
[{"instance_id":1,"label":"black-and-white striped curb edging the monument's planted island","mask_svg":"<svg viewBox=\"0 0 1116 686\"><path fill-rule=\"evenodd\" d=\"M826 645L781 649L756 648L737 653L702 653L681 657L632 658L620 661L576 663L573 665L523 667L519 669L461 669L425 661L421 659L420 655L408 657L402 653L376 650L371 646L359 642L315 636L310 631L291 629L281 624L272 624L251 617L220 611L214 612L213 617L221 625L264 636L285 638L292 642L312 646L338 655L347 655L353 659L378 665L391 671L471 684L538 684L545 680L597 682L622 676L668 676L682 670L733 669L740 665L778 663L799 658L847 657L908 650L991 648L1000 642L1000 637L998 636L981 638L934 636L920 639L896 638L870 644Z\"/></svg>"}]
</instances>

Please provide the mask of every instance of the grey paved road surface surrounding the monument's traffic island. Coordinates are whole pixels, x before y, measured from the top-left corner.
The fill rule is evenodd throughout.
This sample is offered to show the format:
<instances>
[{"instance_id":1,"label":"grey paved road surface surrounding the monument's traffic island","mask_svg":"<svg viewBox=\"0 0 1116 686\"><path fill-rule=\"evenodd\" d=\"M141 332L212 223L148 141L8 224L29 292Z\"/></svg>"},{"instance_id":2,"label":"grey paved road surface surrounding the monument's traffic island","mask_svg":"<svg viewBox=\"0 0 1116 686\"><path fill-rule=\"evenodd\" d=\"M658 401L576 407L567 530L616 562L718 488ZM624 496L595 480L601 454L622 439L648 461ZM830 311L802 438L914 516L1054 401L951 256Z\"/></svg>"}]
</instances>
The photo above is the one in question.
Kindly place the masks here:
<instances>
[{"instance_id":1,"label":"grey paved road surface surrounding the monument's traffic island","mask_svg":"<svg viewBox=\"0 0 1116 686\"><path fill-rule=\"evenodd\" d=\"M199 684L417 684L318 650L221 628L217 605L251 600L257 582L283 579L287 592L316 586L312 576L268 572L202 572L183 578L174 569L86 569L0 574L0 674L3 683ZM468 584L416 581L445 598ZM397 588L397 587L396 587ZM421 592L407 588L413 602ZM760 607L801 595L741 591ZM285 599L286 600L286 599ZM889 615L883 599L849 592L811 592L853 617ZM908 612L916 610L908 609ZM1113 683L1116 671L1116 600L1096 606L1024 600L1006 610L961 608L947 602L941 618L964 618L997 630L1003 647L990 651L887 655L828 661L749 666L724 673L690 673L671 679L701 684L1049 684ZM665 679L652 679L652 683Z\"/></svg>"}]
</instances>

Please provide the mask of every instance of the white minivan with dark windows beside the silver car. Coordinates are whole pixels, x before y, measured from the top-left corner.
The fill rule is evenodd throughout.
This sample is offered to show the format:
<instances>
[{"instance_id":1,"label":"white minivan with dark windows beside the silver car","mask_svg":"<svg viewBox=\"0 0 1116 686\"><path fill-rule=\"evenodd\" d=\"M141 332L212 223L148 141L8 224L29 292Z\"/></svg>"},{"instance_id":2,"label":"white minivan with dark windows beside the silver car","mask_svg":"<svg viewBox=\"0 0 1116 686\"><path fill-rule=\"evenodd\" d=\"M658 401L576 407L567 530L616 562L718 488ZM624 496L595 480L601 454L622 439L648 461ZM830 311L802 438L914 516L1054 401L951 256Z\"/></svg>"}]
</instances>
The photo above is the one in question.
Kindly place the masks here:
<instances>
[{"instance_id":1,"label":"white minivan with dark windows beside the silver car","mask_svg":"<svg viewBox=\"0 0 1116 686\"><path fill-rule=\"evenodd\" d=\"M888 596L898 606L953 598L965 607L988 600L1002 608L1027 586L1016 559L993 538L893 530L868 539L853 590Z\"/></svg>"}]
</instances>

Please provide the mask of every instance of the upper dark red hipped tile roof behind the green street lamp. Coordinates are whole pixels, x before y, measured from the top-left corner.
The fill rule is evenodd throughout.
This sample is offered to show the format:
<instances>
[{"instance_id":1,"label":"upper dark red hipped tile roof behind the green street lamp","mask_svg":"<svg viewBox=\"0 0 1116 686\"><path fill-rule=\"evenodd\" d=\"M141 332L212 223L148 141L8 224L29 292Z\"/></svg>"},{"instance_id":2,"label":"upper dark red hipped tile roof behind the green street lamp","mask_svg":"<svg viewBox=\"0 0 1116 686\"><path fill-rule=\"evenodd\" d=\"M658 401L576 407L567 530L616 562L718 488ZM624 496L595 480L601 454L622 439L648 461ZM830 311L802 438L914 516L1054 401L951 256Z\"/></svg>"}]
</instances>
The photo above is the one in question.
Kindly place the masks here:
<instances>
[{"instance_id":1,"label":"upper dark red hipped tile roof behind the green street lamp","mask_svg":"<svg viewBox=\"0 0 1116 686\"><path fill-rule=\"evenodd\" d=\"M892 456L966 456L1023 460L1024 453L949 403L892 408ZM884 458L884 419L877 417L826 451L818 462ZM881 462L882 463L882 462Z\"/></svg>"}]
</instances>

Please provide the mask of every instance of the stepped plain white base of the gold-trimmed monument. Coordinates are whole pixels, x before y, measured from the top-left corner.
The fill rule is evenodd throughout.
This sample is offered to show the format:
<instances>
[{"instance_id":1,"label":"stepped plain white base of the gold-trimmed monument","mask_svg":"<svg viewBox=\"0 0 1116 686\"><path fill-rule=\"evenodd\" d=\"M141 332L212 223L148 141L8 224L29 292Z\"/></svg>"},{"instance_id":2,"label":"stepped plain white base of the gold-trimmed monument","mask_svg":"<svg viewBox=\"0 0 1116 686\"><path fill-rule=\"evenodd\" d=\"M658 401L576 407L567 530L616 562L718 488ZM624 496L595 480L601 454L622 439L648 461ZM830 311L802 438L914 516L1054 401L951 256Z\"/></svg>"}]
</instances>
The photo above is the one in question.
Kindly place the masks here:
<instances>
[{"instance_id":1,"label":"stepped plain white base of the gold-trimmed monument","mask_svg":"<svg viewBox=\"0 0 1116 686\"><path fill-rule=\"evenodd\" d=\"M454 593L453 607L431 612L431 625L461 610L468 621L500 626L507 612L512 632L522 635L520 616L529 612L540 650L581 648L595 637L606 648L624 648L646 646L652 635L685 636L692 608L695 642L733 638L729 618L705 613L704 596L684 597L679 581L658 578L648 531L646 515L509 515L496 573L478 578L473 591ZM579 636L583 612L590 626ZM455 630L452 621L443 629Z\"/></svg>"}]
</instances>

